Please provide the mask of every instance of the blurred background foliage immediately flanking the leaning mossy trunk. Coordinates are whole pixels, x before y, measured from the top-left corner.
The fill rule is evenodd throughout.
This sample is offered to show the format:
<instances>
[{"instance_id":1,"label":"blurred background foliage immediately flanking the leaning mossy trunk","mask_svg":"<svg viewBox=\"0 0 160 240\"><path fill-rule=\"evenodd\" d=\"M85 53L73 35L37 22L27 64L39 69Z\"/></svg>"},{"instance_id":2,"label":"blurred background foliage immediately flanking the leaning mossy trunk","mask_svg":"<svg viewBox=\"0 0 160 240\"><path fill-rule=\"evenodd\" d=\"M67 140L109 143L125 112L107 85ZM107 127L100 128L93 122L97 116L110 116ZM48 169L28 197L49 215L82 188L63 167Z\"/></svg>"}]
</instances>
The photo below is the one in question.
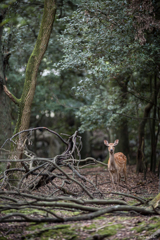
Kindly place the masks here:
<instances>
[{"instance_id":1,"label":"blurred background foliage immediately flanking the leaning mossy trunk","mask_svg":"<svg viewBox=\"0 0 160 240\"><path fill-rule=\"evenodd\" d=\"M81 106L78 97L75 97L72 90L72 86L76 82L76 74L73 71L60 72L53 69L53 63L59 61L63 54L56 35L65 26L59 24L57 19L63 17L61 14L67 13L69 15L75 8L76 1L72 1L71 4L64 1L64 5L58 8L50 43L40 65L32 107L32 119L35 119L37 115L42 116L44 112L51 111L54 113L63 112L64 114L69 114L72 111L73 115L75 110ZM7 11L3 35L4 50L11 51L6 71L7 86L17 97L20 97L22 93L26 65L38 35L42 10L43 1L21 3L15 1ZM13 116L16 115L15 107L12 108L12 112Z\"/></svg>"}]
</instances>

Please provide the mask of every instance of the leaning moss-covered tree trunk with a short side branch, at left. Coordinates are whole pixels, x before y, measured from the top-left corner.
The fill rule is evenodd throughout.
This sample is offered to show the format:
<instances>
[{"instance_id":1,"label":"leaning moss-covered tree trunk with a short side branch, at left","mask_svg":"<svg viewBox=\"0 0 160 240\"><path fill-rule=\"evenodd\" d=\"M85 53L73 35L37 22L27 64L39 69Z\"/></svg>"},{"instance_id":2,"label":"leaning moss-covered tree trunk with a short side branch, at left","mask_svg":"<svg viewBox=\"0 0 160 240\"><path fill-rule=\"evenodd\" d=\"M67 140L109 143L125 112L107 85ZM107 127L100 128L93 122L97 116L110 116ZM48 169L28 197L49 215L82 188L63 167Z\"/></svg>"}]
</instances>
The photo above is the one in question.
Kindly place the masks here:
<instances>
[{"instance_id":1,"label":"leaning moss-covered tree trunk with a short side branch, at left","mask_svg":"<svg viewBox=\"0 0 160 240\"><path fill-rule=\"evenodd\" d=\"M45 0L44 1L44 10L43 17L41 21L41 26L37 41L33 52L28 60L26 68L26 77L23 87L23 92L20 99L17 99L13 96L7 87L4 87L5 93L11 98L13 102L18 105L18 120L16 123L16 128L14 133L22 131L29 128L30 124L30 115L31 115L31 105L35 94L36 82L37 82L37 73L38 68L43 58L43 55L47 49L49 42L50 34L52 31L52 26L56 13L56 3L55 0ZM21 156L21 146L23 144L25 133L21 136L21 139L17 139L17 150L16 159Z\"/></svg>"}]
</instances>

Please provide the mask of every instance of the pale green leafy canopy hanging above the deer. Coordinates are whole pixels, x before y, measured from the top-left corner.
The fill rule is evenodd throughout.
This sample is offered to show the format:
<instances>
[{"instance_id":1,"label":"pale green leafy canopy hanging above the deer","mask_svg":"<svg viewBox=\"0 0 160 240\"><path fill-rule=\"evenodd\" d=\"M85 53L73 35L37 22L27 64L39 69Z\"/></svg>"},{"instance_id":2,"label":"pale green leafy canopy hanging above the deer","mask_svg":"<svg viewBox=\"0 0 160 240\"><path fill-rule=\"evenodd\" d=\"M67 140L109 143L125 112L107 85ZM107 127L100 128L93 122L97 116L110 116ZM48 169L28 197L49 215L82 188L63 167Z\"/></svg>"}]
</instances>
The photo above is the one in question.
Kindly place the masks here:
<instances>
[{"instance_id":1,"label":"pale green leafy canopy hanging above the deer","mask_svg":"<svg viewBox=\"0 0 160 240\"><path fill-rule=\"evenodd\" d=\"M82 73L74 87L76 96L85 99L77 111L80 130L117 125L124 115L139 117L139 106L143 109L149 101L149 76L159 61L159 37L149 36L144 45L135 40L134 15L124 0L83 0L72 16L60 21L68 24L64 35L57 36L64 57L56 67ZM125 98L124 88L132 93Z\"/></svg>"}]
</instances>

